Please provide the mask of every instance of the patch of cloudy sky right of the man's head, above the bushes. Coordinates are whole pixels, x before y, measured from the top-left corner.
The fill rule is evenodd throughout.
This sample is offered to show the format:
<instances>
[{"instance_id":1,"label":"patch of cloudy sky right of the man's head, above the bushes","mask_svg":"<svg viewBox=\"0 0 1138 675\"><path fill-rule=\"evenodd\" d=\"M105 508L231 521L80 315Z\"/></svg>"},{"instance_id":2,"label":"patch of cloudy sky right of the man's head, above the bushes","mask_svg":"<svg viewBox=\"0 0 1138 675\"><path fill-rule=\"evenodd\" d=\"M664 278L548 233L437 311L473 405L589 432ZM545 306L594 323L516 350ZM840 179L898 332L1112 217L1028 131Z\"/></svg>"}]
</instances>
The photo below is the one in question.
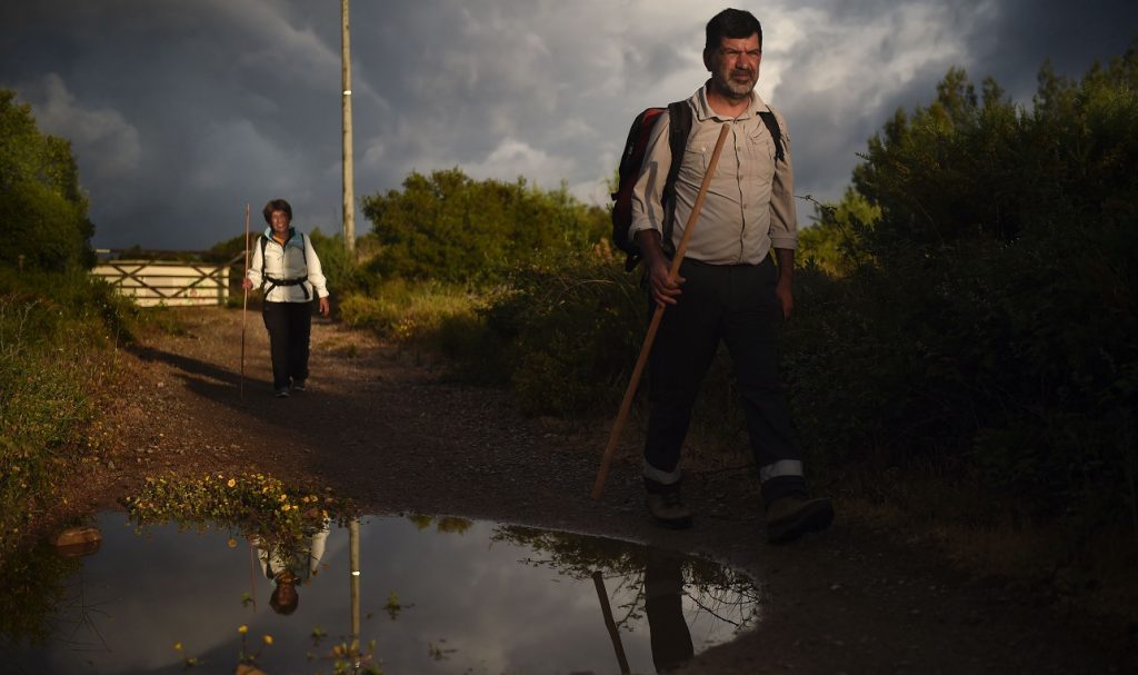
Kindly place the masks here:
<instances>
[{"instance_id":1,"label":"patch of cloudy sky right of the man's head, above the bushes","mask_svg":"<svg viewBox=\"0 0 1138 675\"><path fill-rule=\"evenodd\" d=\"M776 16L766 31L764 68L782 66L770 99L791 124L795 191L826 199L849 184L869 137L898 108L929 105L950 67L965 68L978 90L992 76L1030 106L1045 59L1078 77L1138 35L1138 8L1121 0L1078 9L1032 0L827 0L787 11L797 13L792 25ZM801 36L780 47L780 28ZM803 206L800 222L813 212Z\"/></svg>"}]
</instances>

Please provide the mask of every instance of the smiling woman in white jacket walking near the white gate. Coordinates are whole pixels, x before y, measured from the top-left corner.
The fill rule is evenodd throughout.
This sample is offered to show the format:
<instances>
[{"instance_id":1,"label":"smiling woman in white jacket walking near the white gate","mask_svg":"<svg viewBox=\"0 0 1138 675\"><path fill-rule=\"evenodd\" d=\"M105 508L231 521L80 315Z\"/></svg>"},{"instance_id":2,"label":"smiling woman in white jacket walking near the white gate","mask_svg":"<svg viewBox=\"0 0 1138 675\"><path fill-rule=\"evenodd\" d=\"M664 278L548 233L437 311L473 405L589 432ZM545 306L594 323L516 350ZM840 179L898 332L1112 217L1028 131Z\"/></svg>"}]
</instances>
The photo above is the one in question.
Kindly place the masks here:
<instances>
[{"instance_id":1,"label":"smiling woman in white jacket walking near the white gate","mask_svg":"<svg viewBox=\"0 0 1138 675\"><path fill-rule=\"evenodd\" d=\"M273 389L278 398L303 392L308 378L308 338L312 301L328 316L328 285L308 237L292 227L292 206L283 199L265 204L269 227L253 247L253 263L241 286L265 294L262 316L269 330L273 360Z\"/></svg>"}]
</instances>

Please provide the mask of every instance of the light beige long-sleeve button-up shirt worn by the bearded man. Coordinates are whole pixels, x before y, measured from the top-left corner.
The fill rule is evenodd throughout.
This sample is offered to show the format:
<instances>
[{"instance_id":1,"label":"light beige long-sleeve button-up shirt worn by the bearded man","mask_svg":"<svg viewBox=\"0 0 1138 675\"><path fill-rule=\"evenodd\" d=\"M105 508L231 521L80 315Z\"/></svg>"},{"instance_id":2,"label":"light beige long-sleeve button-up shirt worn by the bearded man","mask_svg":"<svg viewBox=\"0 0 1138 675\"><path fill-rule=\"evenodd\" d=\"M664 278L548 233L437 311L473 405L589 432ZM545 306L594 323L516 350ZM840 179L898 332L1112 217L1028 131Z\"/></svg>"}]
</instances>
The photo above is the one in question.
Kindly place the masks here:
<instances>
[{"instance_id":1,"label":"light beige long-sleeve button-up shirt worn by the bearded man","mask_svg":"<svg viewBox=\"0 0 1138 675\"><path fill-rule=\"evenodd\" d=\"M772 247L798 247L794 172L786 123L770 108L782 130L785 156L785 162L776 163L774 139L759 117L759 110L766 110L767 105L758 93L751 96L751 106L734 120L721 117L711 109L707 85L687 99L693 110L692 133L676 178L673 249L678 248L684 234L719 129L728 122L732 129L694 224L686 257L717 265L758 264ZM660 115L649 137L644 164L633 188L630 238L646 229L663 232L661 194L673 160L668 146L670 129L668 115Z\"/></svg>"}]
</instances>

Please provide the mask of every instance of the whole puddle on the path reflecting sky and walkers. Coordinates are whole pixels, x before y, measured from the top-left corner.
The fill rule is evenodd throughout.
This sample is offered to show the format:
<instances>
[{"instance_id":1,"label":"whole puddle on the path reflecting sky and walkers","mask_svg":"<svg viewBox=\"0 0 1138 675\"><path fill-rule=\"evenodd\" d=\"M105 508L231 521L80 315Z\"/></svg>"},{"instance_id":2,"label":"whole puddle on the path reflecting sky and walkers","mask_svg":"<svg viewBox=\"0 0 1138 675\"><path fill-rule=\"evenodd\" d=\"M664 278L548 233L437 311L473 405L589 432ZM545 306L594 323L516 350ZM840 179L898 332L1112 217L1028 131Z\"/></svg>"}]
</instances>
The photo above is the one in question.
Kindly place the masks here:
<instances>
[{"instance_id":1,"label":"whole puddle on the path reflecting sky and walkers","mask_svg":"<svg viewBox=\"0 0 1138 675\"><path fill-rule=\"evenodd\" d=\"M333 524L299 562L224 530L140 536L122 513L98 526L101 549L75 565L50 639L0 635L15 651L6 672L179 673L196 659L232 673L255 655L270 675L354 672L333 657L356 633L388 675L654 673L759 615L750 581L700 559L459 518ZM299 571L281 583L282 568Z\"/></svg>"}]
</instances>

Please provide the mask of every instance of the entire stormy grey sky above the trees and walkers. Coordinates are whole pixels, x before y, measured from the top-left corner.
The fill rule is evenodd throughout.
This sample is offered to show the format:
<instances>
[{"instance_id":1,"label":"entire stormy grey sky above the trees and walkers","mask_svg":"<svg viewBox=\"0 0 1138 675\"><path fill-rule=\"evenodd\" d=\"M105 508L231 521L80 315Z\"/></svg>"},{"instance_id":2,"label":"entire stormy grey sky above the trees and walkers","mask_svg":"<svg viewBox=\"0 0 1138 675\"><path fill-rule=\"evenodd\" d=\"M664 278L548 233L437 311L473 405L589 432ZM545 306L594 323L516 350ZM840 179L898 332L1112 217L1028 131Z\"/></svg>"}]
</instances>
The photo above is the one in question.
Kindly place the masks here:
<instances>
[{"instance_id":1,"label":"entire stormy grey sky above the trees and walkers","mask_svg":"<svg viewBox=\"0 0 1138 675\"><path fill-rule=\"evenodd\" d=\"M745 5L744 5L745 6ZM602 200L630 117L704 80L699 0L355 0L356 195L461 166ZM790 125L799 194L835 199L897 107L948 67L1030 102L1050 56L1081 74L1120 55L1129 3L769 2L759 90ZM335 2L17 0L0 7L0 87L72 139L96 244L201 248L245 203L290 199L338 231L340 36ZM803 208L803 222L808 219ZM262 227L254 220L254 228ZM357 231L368 223L357 222Z\"/></svg>"}]
</instances>

